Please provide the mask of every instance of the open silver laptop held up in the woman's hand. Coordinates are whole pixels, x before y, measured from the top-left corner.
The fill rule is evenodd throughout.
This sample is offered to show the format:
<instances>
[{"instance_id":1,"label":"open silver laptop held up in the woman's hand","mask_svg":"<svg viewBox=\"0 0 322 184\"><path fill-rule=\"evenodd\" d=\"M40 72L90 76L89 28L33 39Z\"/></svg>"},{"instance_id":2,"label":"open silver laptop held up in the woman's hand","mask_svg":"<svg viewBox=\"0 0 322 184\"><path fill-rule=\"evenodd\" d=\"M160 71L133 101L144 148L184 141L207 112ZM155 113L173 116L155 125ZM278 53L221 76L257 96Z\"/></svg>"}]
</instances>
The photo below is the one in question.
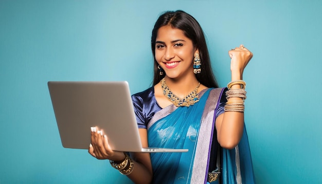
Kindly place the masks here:
<instances>
[{"instance_id":1,"label":"open silver laptop held up in the woman's hand","mask_svg":"<svg viewBox=\"0 0 322 184\"><path fill-rule=\"evenodd\" d=\"M187 149L142 148L127 81L49 81L48 88L64 148L88 149L91 127L108 136L112 150L187 152Z\"/></svg>"}]
</instances>

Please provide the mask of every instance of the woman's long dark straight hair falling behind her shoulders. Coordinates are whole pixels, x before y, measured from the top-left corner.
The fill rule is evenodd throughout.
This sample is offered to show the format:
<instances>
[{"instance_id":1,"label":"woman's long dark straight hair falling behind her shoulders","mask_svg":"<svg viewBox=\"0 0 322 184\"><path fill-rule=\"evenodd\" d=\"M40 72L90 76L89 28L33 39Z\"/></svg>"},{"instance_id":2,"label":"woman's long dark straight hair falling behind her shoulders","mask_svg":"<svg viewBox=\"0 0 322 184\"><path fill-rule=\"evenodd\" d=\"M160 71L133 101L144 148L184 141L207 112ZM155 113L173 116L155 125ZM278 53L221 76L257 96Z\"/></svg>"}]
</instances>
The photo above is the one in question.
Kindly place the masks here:
<instances>
[{"instance_id":1,"label":"woman's long dark straight hair falling behind her shoulders","mask_svg":"<svg viewBox=\"0 0 322 184\"><path fill-rule=\"evenodd\" d=\"M155 60L155 42L157 31L160 27L166 25L171 25L173 28L183 30L185 36L187 36L187 38L192 41L193 45L199 49L201 59L201 72L195 74L197 80L207 87L218 87L218 83L214 78L211 69L207 43L203 30L199 23L194 19L194 17L182 10L166 11L165 13L160 15L155 22L151 36L151 49L154 58L153 85L157 84L161 79L165 77L165 72L162 76L159 75L159 70L157 68L158 64Z\"/></svg>"}]
</instances>

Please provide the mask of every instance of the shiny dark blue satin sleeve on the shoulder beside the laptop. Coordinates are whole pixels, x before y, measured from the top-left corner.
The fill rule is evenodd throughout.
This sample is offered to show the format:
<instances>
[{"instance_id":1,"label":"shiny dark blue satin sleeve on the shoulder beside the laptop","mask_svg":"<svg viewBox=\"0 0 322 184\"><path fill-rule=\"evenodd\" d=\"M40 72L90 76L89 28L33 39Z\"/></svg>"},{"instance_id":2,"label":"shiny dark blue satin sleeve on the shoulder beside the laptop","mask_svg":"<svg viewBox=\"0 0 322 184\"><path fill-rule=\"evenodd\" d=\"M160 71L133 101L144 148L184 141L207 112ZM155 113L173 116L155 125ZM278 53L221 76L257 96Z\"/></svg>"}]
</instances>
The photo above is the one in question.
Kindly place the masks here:
<instances>
[{"instance_id":1,"label":"shiny dark blue satin sleeve on the shoulder beside the laptop","mask_svg":"<svg viewBox=\"0 0 322 184\"><path fill-rule=\"evenodd\" d=\"M132 95L132 101L138 128L147 128L154 114L162 109L155 100L154 87Z\"/></svg>"}]
</instances>

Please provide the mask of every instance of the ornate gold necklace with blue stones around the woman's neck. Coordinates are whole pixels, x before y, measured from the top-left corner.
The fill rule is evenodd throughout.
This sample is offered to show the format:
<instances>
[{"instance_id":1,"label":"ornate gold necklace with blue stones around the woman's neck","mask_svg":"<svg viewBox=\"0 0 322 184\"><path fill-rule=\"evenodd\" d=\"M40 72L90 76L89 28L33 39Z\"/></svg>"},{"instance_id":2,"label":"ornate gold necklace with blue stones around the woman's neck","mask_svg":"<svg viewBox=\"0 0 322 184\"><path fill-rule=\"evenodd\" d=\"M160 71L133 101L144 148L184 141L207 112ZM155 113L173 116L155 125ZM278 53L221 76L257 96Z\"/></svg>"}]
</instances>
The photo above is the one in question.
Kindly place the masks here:
<instances>
[{"instance_id":1,"label":"ornate gold necklace with blue stones around the woman's neck","mask_svg":"<svg viewBox=\"0 0 322 184\"><path fill-rule=\"evenodd\" d=\"M198 87L200 86L200 82L198 85L194 88L193 91L189 95L187 95L185 98L180 99L176 95L172 93L172 91L169 89L169 87L166 84L165 78L163 78L161 81L161 86L163 89L163 95L167 97L175 106L187 106L195 104L196 102L199 102L198 98Z\"/></svg>"}]
</instances>

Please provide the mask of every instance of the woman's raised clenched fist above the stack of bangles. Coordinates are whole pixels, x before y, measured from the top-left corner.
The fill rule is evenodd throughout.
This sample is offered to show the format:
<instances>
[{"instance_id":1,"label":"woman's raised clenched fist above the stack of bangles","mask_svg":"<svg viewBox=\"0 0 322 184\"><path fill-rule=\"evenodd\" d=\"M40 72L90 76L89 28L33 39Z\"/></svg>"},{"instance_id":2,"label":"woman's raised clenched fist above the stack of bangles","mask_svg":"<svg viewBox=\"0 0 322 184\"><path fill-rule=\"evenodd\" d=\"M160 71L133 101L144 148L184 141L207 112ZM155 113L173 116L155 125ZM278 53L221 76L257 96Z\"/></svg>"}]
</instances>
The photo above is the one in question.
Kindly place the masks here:
<instances>
[{"instance_id":1,"label":"woman's raised clenched fist above the stack of bangles","mask_svg":"<svg viewBox=\"0 0 322 184\"><path fill-rule=\"evenodd\" d=\"M253 57L253 53L245 48L243 45L233 48L228 51L231 58L230 70L232 80L241 80L244 69Z\"/></svg>"}]
</instances>

